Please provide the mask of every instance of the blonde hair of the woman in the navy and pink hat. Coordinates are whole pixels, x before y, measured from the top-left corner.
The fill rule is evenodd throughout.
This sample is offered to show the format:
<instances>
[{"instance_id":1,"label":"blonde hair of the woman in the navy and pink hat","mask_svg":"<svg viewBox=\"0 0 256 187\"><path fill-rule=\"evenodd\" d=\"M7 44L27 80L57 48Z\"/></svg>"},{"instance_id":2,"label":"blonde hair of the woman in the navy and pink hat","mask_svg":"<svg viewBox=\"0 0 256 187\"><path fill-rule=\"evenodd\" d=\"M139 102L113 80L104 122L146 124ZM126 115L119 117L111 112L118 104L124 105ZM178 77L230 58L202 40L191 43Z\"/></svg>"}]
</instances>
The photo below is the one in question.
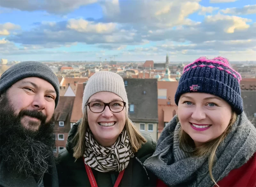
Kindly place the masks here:
<instances>
[{"instance_id":1,"label":"blonde hair of the woman in the navy and pink hat","mask_svg":"<svg viewBox=\"0 0 256 187\"><path fill-rule=\"evenodd\" d=\"M218 138L213 139L210 142L207 142L202 146L196 147L192 152L193 156L202 157L202 156L206 155L208 157L209 174L210 174L212 181L217 186L219 186L219 185L216 183L216 181L214 180L214 178L212 176L212 166L215 161L215 152L216 152L218 146L220 145L220 143L227 136L227 133L230 131L231 126L236 122L236 117L237 117L236 112L232 112L231 118L230 118L230 121L228 123L228 127L226 128L226 130ZM178 115L177 115L177 123L179 123ZM183 148L185 144L189 144L190 146L195 147L193 139L181 128L181 126L180 126L180 129L178 130L178 134L179 134L179 140L180 140L180 142L179 142L180 148L184 152L186 152Z\"/></svg>"}]
</instances>

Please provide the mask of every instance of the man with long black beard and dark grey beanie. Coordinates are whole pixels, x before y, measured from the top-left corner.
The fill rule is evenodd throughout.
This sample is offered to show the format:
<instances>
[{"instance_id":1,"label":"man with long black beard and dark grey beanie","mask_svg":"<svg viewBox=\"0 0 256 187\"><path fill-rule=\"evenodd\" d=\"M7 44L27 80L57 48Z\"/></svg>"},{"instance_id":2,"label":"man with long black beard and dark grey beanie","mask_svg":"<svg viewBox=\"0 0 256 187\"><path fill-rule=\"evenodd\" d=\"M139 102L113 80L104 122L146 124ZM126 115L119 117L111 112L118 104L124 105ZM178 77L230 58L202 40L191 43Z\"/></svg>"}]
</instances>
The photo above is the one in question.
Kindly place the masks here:
<instances>
[{"instance_id":1,"label":"man with long black beard and dark grey beanie","mask_svg":"<svg viewBox=\"0 0 256 187\"><path fill-rule=\"evenodd\" d=\"M0 186L58 186L53 113L59 85L52 70L35 61L0 77Z\"/></svg>"}]
</instances>

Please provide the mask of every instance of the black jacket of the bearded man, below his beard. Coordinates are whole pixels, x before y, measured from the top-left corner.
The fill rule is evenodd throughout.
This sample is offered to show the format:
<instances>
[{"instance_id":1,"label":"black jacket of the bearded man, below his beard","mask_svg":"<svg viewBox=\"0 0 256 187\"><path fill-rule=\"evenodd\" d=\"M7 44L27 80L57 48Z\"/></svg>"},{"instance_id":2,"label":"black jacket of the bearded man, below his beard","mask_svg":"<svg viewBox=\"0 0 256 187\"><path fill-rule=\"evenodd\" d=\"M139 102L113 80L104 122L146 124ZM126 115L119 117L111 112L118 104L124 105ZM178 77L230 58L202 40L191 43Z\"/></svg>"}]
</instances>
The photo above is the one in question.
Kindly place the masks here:
<instances>
[{"instance_id":1,"label":"black jacket of the bearded man, below his beard","mask_svg":"<svg viewBox=\"0 0 256 187\"><path fill-rule=\"evenodd\" d=\"M45 173L43 177L44 186L59 186L57 170L55 166L55 161L52 161L53 165L49 168L49 173ZM1 157L0 161L0 186L10 186L10 187L38 187L34 177L20 176L18 174L12 174L6 168L5 161Z\"/></svg>"}]
</instances>

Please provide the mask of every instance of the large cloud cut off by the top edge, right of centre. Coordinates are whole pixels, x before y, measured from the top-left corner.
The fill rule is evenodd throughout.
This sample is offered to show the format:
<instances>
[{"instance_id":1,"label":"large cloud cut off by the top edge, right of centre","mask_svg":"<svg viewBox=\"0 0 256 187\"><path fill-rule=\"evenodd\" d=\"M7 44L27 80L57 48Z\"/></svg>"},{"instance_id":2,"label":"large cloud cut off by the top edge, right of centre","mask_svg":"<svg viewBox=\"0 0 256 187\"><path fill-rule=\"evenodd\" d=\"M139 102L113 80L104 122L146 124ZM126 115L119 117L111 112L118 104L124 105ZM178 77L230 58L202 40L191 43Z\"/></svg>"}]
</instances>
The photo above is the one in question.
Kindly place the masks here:
<instances>
[{"instance_id":1,"label":"large cloud cut off by the top edge, right of centre","mask_svg":"<svg viewBox=\"0 0 256 187\"><path fill-rule=\"evenodd\" d=\"M106 1L101 2L103 18L99 21L132 24L133 28L144 30L191 25L193 21L188 16L200 9L198 2L199 0L119 1L117 6Z\"/></svg>"}]
</instances>

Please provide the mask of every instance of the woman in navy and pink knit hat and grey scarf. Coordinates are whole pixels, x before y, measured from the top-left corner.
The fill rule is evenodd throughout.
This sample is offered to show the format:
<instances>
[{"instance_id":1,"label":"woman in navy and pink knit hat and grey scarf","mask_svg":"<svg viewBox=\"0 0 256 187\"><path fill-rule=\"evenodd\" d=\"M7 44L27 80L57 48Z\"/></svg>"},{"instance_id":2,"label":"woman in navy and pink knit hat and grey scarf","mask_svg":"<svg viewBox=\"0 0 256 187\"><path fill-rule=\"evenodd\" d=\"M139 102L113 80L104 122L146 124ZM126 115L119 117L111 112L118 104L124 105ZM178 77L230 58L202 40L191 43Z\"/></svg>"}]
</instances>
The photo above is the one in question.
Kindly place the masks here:
<instances>
[{"instance_id":1,"label":"woman in navy and pink knit hat and grey scarf","mask_svg":"<svg viewBox=\"0 0 256 187\"><path fill-rule=\"evenodd\" d=\"M240 80L223 57L184 67L178 115L144 162L164 182L158 186L256 186L256 129L243 112Z\"/></svg>"}]
</instances>

